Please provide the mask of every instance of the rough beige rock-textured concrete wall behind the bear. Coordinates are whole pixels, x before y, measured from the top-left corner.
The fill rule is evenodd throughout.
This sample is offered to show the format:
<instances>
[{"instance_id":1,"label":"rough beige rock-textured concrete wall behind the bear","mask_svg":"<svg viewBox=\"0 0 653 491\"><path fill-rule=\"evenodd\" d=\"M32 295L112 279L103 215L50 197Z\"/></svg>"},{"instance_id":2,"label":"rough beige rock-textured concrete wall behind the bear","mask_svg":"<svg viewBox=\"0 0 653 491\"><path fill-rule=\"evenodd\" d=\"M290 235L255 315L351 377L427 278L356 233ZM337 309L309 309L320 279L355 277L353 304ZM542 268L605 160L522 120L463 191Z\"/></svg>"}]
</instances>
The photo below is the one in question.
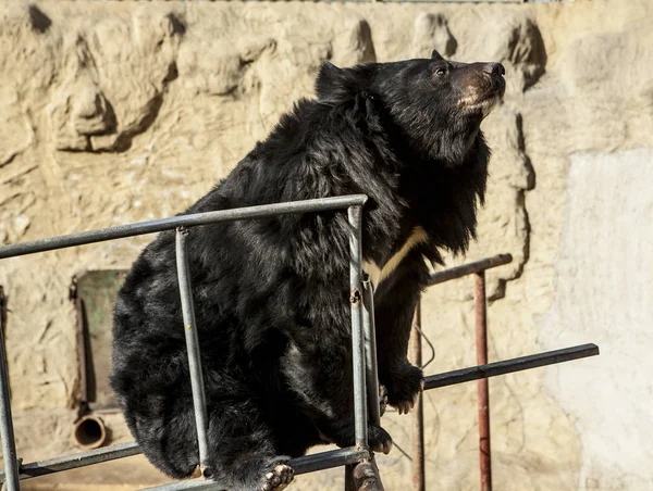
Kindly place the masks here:
<instances>
[{"instance_id":1,"label":"rough beige rock-textured concrete wall behind the bear","mask_svg":"<svg viewBox=\"0 0 653 491\"><path fill-rule=\"evenodd\" d=\"M438 48L455 60L501 61L508 89L483 126L494 158L479 241L449 263L515 256L489 274L492 361L590 341L603 354L491 380L495 488L651 489L652 386L643 374L652 368L652 24L646 0L3 2L0 242L180 212L293 100L311 95L323 60L349 65ZM25 459L74 450L71 276L128 267L148 240L0 263ZM429 373L475 364L470 299L469 278L426 295L423 324L436 349ZM430 489L478 489L476 386L427 393L426 417ZM408 449L409 419L384 420ZM113 441L130 438L120 417L107 423ZM141 457L125 463L39 489L161 480ZM399 452L380 464L387 489L408 486ZM342 489L342 470L300 477L295 488Z\"/></svg>"}]
</instances>

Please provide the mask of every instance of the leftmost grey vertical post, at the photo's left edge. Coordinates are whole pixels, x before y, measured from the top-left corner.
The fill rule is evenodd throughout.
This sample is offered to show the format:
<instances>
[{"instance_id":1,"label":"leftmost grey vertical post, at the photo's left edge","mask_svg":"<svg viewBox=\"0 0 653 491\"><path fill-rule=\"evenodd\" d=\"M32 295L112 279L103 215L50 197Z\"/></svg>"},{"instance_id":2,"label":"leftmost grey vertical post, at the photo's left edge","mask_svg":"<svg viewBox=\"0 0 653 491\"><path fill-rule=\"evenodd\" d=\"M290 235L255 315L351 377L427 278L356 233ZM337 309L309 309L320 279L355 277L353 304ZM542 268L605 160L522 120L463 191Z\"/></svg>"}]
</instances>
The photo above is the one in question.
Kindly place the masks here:
<instances>
[{"instance_id":1,"label":"leftmost grey vertical post, at the photo's left edge","mask_svg":"<svg viewBox=\"0 0 653 491\"><path fill-rule=\"evenodd\" d=\"M19 461L16 442L11 418L11 402L9 395L9 376L7 373L7 356L4 352L4 290L0 287L0 438L2 438L2 459L4 461L4 487L8 491L19 491Z\"/></svg>"}]
</instances>

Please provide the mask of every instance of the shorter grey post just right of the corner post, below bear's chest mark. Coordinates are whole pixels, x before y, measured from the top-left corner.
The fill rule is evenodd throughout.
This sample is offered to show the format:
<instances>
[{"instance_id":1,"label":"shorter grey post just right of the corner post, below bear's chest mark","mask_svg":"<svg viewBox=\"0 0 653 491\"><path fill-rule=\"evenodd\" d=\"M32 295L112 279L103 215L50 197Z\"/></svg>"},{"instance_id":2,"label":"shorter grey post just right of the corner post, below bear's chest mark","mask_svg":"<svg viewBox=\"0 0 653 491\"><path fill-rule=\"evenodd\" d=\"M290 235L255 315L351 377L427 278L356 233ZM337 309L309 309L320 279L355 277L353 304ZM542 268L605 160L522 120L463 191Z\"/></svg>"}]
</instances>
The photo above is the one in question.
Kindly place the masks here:
<instances>
[{"instance_id":1,"label":"shorter grey post just right of the corner post, below bear's chest mark","mask_svg":"<svg viewBox=\"0 0 653 491\"><path fill-rule=\"evenodd\" d=\"M372 425L381 425L379 372L377 367L377 330L374 327L374 291L367 274L362 276L362 328L365 330L366 387Z\"/></svg>"}]
</instances>

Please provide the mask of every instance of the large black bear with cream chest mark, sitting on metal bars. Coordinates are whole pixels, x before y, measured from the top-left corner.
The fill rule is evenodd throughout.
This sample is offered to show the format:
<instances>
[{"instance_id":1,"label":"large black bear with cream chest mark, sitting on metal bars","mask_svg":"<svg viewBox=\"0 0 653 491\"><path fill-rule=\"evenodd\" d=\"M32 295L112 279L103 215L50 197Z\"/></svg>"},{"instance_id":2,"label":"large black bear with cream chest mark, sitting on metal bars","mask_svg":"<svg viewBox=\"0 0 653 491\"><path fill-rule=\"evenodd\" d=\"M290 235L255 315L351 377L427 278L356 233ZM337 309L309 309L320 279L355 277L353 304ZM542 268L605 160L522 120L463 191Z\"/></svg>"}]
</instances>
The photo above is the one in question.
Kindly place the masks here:
<instances>
[{"instance_id":1,"label":"large black bear with cream chest mark, sitting on metal bars","mask_svg":"<svg viewBox=\"0 0 653 491\"><path fill-rule=\"evenodd\" d=\"M367 194L362 254L374 282L379 380L408 411L422 373L406 358L411 315L439 251L475 235L490 151L480 124L504 89L498 63L431 59L338 68L316 100L186 213ZM282 489L289 457L354 444L348 223L342 212L193 228L189 264L208 411L205 476ZM198 449L174 232L134 263L114 311L112 387L149 461L190 476ZM370 446L390 436L369 426Z\"/></svg>"}]
</instances>

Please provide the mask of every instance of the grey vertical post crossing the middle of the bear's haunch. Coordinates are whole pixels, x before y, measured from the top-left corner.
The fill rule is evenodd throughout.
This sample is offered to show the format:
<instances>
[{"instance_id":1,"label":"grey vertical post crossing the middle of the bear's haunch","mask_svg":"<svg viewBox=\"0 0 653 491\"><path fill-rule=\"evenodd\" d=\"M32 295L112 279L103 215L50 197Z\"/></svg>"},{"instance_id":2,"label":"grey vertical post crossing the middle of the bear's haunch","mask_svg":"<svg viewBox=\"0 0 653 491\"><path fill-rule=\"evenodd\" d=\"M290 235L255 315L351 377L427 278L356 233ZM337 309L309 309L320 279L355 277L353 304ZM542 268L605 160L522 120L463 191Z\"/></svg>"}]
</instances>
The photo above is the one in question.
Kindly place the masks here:
<instances>
[{"instance_id":1,"label":"grey vertical post crossing the middle of the bear's haunch","mask_svg":"<svg viewBox=\"0 0 653 491\"><path fill-rule=\"evenodd\" d=\"M187 243L188 230L180 227L176 229L176 266L182 299L182 316L184 332L186 335L186 351L188 352L188 368L190 372L190 388L193 390L193 405L195 406L195 426L197 428L197 445L199 449L199 467L204 474L208 456L207 443L207 401L204 391L204 377L201 374L201 358L199 354L199 340L195 310L193 309L193 289L188 266Z\"/></svg>"}]
</instances>

